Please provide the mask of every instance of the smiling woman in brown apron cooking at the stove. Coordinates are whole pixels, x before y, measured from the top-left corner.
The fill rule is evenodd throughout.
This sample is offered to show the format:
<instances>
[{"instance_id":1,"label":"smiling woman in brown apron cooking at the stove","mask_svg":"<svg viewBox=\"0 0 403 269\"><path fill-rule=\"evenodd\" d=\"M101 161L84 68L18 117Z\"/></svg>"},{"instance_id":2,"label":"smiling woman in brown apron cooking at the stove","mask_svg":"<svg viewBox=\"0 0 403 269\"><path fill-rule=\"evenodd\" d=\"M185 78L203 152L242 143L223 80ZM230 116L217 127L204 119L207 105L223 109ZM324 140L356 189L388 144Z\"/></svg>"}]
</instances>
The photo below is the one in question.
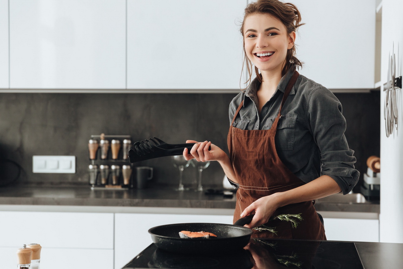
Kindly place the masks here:
<instances>
[{"instance_id":1,"label":"smiling woman in brown apron cooking at the stove","mask_svg":"<svg viewBox=\"0 0 403 269\"><path fill-rule=\"evenodd\" d=\"M257 76L230 104L229 156L208 141L183 152L187 160L218 161L239 186L234 222L254 213L245 227L276 227L277 234L254 230L255 238L326 240L313 200L347 194L359 178L339 100L296 71L302 67L294 46L300 21L295 5L278 0L245 8L243 50ZM301 214L303 220L296 228L269 221L280 214Z\"/></svg>"}]
</instances>

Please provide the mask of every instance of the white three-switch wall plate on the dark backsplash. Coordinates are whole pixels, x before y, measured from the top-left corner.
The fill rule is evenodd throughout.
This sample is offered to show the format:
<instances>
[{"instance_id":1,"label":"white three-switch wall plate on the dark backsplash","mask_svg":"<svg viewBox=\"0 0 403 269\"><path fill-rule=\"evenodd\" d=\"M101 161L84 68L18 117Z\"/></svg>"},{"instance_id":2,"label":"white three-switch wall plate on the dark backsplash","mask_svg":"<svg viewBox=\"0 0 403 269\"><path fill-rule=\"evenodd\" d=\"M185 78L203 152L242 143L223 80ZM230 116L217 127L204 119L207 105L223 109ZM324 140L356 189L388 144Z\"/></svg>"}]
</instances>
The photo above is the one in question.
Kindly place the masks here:
<instances>
[{"instance_id":1,"label":"white three-switch wall plate on the dark backsplash","mask_svg":"<svg viewBox=\"0 0 403 269\"><path fill-rule=\"evenodd\" d=\"M33 173L75 173L75 156L32 156Z\"/></svg>"}]
</instances>

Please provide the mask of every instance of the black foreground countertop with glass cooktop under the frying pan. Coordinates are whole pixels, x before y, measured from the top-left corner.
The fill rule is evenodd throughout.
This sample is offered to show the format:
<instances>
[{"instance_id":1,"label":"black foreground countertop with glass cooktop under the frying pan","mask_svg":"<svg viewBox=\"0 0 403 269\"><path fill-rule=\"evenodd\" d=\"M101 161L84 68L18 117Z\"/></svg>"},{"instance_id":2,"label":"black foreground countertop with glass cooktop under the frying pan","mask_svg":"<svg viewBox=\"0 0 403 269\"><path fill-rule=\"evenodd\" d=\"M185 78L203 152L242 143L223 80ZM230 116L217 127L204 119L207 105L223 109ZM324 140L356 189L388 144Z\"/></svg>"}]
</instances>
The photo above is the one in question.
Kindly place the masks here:
<instances>
[{"instance_id":1,"label":"black foreground countertop with glass cooktop under the frying pan","mask_svg":"<svg viewBox=\"0 0 403 269\"><path fill-rule=\"evenodd\" d=\"M123 269L401 269L401 253L403 244L320 240L251 239L244 249L236 253L215 255L170 253L151 244ZM209 266L204 267L204 264Z\"/></svg>"}]
</instances>

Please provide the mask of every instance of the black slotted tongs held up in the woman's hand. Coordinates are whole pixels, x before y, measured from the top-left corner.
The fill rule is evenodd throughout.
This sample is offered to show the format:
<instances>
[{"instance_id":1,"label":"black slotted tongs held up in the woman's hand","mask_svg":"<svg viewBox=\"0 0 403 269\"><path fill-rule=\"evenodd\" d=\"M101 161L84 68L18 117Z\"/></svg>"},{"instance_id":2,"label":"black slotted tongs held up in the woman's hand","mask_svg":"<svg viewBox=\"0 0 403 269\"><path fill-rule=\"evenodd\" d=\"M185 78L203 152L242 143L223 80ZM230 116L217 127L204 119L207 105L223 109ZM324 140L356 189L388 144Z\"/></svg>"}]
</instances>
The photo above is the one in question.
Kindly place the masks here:
<instances>
[{"instance_id":1,"label":"black slotted tongs held up in the woman's hand","mask_svg":"<svg viewBox=\"0 0 403 269\"><path fill-rule=\"evenodd\" d=\"M196 143L167 144L156 137L137 141L129 150L129 162L135 163L164 156L182 155L185 148L190 152L194 144ZM208 150L211 150L211 146Z\"/></svg>"}]
</instances>

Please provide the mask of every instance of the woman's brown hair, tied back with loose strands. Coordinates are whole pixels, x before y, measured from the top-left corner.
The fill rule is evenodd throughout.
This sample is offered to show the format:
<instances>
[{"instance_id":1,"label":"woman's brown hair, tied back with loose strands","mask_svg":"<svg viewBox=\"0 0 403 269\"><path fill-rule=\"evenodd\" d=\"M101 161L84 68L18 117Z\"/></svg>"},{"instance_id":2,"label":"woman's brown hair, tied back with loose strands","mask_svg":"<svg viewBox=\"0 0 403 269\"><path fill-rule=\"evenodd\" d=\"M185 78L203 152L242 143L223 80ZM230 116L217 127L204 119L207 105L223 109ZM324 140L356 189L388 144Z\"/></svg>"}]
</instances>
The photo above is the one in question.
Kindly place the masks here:
<instances>
[{"instance_id":1,"label":"woman's brown hair, tied back with loose strands","mask_svg":"<svg viewBox=\"0 0 403 269\"><path fill-rule=\"evenodd\" d=\"M277 19L279 19L283 25L285 26L285 29L287 30L287 34L289 35L293 31L296 31L297 28L301 25L304 25L305 23L300 23L301 22L301 14L299 13L299 10L294 4L291 3L284 3L279 0L258 0L256 2L252 2L247 5L245 8L245 16L243 17L242 25L241 25L241 35L243 36L243 26L245 23L245 19L250 16L250 15L255 15L255 14L270 14ZM294 23L295 22L295 23ZM245 38L243 38L243 63L242 63L242 70L243 66L245 64L246 60L246 65L249 73L249 84L251 82L251 77L252 77L252 62L249 60L249 58L246 55L245 51ZM287 73L288 69L291 67L291 65L295 64L297 67L302 68L303 62L297 59L295 57L296 50L295 50L295 43L294 46L287 51L287 56L285 58L286 64L281 71L281 76L283 77L285 73ZM255 66L255 72L256 76L258 77L258 80L260 82L263 81L262 75L259 73L258 68ZM246 81L245 83L247 83ZM245 88L246 89L246 88ZM245 90L242 89L242 90Z\"/></svg>"}]
</instances>

